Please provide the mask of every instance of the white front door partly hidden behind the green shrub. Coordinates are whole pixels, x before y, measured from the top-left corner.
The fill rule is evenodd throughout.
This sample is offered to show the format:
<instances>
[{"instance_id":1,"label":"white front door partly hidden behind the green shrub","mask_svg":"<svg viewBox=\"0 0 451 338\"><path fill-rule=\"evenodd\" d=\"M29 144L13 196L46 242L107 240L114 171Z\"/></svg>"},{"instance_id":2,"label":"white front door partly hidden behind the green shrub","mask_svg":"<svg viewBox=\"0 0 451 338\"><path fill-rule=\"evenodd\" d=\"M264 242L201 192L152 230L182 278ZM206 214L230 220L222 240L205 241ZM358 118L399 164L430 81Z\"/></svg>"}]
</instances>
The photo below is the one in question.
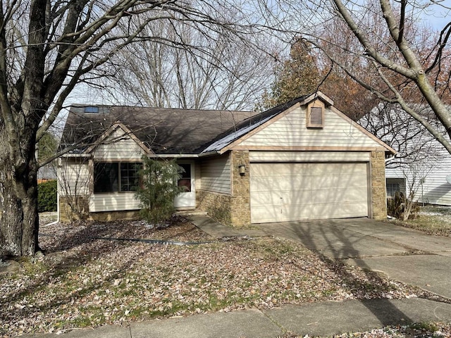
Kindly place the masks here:
<instances>
[{"instance_id":1,"label":"white front door partly hidden behind the green shrub","mask_svg":"<svg viewBox=\"0 0 451 338\"><path fill-rule=\"evenodd\" d=\"M184 172L178 180L178 186L183 187L185 192L178 194L174 199L174 206L178 210L196 208L196 189L194 184L194 162L180 161L177 163Z\"/></svg>"}]
</instances>

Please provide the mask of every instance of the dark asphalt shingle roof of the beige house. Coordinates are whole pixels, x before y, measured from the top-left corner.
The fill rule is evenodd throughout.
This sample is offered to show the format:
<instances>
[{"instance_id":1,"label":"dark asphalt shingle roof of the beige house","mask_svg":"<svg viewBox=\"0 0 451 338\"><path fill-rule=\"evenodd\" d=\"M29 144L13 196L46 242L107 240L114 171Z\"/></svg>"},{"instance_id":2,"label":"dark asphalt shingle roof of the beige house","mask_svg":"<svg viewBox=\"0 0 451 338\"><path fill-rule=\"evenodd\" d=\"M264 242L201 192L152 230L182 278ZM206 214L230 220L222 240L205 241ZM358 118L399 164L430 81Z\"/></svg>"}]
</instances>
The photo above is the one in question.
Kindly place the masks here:
<instances>
[{"instance_id":1,"label":"dark asphalt shingle roof of the beige house","mask_svg":"<svg viewBox=\"0 0 451 338\"><path fill-rule=\"evenodd\" d=\"M92 144L111 125L121 122L155 154L218 151L306 97L301 96L263 113L74 105L70 107L61 146ZM92 107L97 107L98 113L85 112L86 107L91 111ZM86 148L86 145L80 145L78 151Z\"/></svg>"}]
</instances>

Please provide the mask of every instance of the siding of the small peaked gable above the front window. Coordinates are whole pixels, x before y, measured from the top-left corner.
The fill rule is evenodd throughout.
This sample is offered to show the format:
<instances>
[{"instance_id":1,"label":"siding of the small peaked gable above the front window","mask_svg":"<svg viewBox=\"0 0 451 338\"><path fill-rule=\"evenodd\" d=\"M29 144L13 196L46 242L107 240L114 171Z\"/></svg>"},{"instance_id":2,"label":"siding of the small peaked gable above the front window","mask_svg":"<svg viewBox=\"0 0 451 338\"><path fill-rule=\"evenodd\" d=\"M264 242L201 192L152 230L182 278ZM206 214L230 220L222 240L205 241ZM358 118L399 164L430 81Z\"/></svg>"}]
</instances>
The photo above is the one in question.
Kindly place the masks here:
<instances>
[{"instance_id":1,"label":"siding of the small peaked gable above the front window","mask_svg":"<svg viewBox=\"0 0 451 338\"><path fill-rule=\"evenodd\" d=\"M144 154L142 148L125 132L118 128L106 138L104 144L99 144L94 150L97 161L140 161Z\"/></svg>"}]
</instances>

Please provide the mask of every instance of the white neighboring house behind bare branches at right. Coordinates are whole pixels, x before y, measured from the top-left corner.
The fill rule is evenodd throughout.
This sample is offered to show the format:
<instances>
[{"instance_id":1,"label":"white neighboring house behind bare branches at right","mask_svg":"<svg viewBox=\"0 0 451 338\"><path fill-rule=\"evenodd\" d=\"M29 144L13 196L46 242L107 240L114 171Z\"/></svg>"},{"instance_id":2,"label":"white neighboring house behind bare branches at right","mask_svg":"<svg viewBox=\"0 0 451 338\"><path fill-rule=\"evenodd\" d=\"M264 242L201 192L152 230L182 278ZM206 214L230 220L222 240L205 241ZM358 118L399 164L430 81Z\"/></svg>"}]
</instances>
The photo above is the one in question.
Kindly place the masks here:
<instances>
[{"instance_id":1,"label":"white neighboring house behind bare branches at right","mask_svg":"<svg viewBox=\"0 0 451 338\"><path fill-rule=\"evenodd\" d=\"M416 111L435 124L430 108ZM451 155L419 122L399 106L380 104L359 124L397 151L385 159L388 199L402 192L420 203L451 206Z\"/></svg>"}]
</instances>

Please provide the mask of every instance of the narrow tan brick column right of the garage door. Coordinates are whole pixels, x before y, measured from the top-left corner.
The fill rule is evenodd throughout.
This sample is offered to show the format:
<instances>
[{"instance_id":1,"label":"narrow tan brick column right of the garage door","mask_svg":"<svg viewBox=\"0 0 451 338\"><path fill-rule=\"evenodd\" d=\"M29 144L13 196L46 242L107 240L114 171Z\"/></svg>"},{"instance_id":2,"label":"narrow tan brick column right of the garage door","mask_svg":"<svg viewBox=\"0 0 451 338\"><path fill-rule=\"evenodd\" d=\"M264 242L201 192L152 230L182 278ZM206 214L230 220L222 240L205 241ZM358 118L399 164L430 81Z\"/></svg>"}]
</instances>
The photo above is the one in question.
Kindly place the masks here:
<instances>
[{"instance_id":1,"label":"narrow tan brick column right of the garage door","mask_svg":"<svg viewBox=\"0 0 451 338\"><path fill-rule=\"evenodd\" d=\"M371 151L371 211L375 220L387 218L384 151Z\"/></svg>"}]
</instances>

